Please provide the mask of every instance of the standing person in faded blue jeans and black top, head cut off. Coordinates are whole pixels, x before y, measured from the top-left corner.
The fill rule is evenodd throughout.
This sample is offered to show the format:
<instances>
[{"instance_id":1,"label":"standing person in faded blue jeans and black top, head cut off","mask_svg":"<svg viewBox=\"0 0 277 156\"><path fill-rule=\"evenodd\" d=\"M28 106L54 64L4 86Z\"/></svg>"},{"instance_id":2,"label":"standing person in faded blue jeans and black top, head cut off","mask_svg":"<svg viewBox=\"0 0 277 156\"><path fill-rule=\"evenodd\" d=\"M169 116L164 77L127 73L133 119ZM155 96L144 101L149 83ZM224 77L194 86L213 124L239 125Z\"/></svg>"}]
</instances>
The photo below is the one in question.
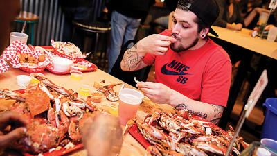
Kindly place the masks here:
<instances>
[{"instance_id":1,"label":"standing person in faded blue jeans and black top, head cut off","mask_svg":"<svg viewBox=\"0 0 277 156\"><path fill-rule=\"evenodd\" d=\"M114 66L121 46L134 40L141 19L148 14L154 0L111 0L107 8L111 13L111 42L108 49L108 73Z\"/></svg>"}]
</instances>

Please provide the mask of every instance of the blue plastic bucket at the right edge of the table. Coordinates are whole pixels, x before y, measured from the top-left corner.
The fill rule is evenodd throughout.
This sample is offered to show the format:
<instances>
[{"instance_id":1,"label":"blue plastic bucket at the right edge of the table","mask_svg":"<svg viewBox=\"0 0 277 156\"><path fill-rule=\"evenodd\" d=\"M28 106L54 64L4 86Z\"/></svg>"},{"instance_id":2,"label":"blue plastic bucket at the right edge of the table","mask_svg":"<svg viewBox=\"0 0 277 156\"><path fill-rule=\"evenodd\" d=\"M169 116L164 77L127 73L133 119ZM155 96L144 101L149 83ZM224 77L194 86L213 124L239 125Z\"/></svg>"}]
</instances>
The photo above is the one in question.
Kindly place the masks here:
<instances>
[{"instance_id":1,"label":"blue plastic bucket at the right edge of the table","mask_svg":"<svg viewBox=\"0 0 277 156\"><path fill-rule=\"evenodd\" d=\"M261 138L269 138L277 141L277 98L267 98L263 106L266 106L267 110L265 111Z\"/></svg>"}]
</instances>

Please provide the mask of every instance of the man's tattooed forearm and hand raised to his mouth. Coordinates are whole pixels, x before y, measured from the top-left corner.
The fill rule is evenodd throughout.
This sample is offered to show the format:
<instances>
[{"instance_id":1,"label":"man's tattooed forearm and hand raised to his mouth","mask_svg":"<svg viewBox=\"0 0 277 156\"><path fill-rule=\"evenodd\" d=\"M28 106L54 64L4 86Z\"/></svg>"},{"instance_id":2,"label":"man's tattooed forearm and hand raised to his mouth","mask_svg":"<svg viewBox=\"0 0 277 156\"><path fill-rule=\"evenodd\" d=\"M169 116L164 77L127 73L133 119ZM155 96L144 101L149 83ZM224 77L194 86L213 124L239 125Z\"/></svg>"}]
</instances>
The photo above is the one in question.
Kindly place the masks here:
<instances>
[{"instance_id":1,"label":"man's tattooed forearm and hand raised to his mouth","mask_svg":"<svg viewBox=\"0 0 277 156\"><path fill-rule=\"evenodd\" d=\"M168 51L168 46L177 40L173 37L165 35L149 35L136 43L131 49L125 51L121 60L121 69L123 71L135 71L146 67L142 62L146 53L154 55L165 55Z\"/></svg>"}]
</instances>

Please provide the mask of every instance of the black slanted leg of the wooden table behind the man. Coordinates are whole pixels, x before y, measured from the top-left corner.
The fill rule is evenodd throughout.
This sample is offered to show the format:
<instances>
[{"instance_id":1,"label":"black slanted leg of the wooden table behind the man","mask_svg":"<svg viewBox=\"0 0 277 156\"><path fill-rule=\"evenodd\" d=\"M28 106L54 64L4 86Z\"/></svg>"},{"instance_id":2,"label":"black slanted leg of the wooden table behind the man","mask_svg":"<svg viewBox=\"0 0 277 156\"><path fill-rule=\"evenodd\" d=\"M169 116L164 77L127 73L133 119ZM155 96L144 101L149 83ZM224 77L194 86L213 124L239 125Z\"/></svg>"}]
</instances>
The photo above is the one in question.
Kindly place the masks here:
<instances>
[{"instance_id":1,"label":"black slanted leg of the wooden table behind the man","mask_svg":"<svg viewBox=\"0 0 277 156\"><path fill-rule=\"evenodd\" d=\"M227 107L225 107L222 118L220 119L220 123L218 124L222 129L226 128L227 122L233 110L233 106L235 105L235 101L237 100L238 93L240 92L243 80L247 74L247 69L250 66L251 58L253 55L252 53L252 51L243 49L243 56L238 67L238 72L235 76L235 80L229 92Z\"/></svg>"}]
</instances>

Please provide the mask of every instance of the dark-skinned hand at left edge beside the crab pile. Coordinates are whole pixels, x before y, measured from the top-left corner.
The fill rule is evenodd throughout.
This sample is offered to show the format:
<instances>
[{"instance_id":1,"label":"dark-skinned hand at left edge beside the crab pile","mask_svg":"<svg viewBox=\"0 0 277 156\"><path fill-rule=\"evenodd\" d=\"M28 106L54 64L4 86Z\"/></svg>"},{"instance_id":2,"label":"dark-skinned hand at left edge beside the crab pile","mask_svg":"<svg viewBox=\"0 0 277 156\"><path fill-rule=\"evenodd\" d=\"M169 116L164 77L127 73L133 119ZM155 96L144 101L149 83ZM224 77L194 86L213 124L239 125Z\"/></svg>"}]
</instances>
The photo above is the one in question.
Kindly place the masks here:
<instances>
[{"instance_id":1,"label":"dark-skinned hand at left edge beside the crab pile","mask_svg":"<svg viewBox=\"0 0 277 156\"><path fill-rule=\"evenodd\" d=\"M0 149L13 144L26 133L27 121L15 112L0 115Z\"/></svg>"}]
</instances>

